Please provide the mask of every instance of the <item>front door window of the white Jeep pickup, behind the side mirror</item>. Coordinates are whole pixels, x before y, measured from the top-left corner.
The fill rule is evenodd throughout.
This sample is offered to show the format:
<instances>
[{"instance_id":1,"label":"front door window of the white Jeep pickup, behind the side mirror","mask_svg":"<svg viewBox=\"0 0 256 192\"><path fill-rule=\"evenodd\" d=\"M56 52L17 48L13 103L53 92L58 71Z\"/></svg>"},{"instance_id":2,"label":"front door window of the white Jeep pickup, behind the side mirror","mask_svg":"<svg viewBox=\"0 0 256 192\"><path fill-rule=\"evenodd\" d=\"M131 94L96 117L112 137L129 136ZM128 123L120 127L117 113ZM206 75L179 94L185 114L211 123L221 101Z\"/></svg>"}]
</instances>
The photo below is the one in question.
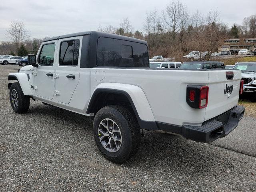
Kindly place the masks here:
<instances>
[{"instance_id":1,"label":"front door window of the white Jeep pickup, behind the side mirror","mask_svg":"<svg viewBox=\"0 0 256 192\"><path fill-rule=\"evenodd\" d=\"M40 65L52 66L54 62L54 51L55 43L43 45L39 55L38 63Z\"/></svg>"}]
</instances>

